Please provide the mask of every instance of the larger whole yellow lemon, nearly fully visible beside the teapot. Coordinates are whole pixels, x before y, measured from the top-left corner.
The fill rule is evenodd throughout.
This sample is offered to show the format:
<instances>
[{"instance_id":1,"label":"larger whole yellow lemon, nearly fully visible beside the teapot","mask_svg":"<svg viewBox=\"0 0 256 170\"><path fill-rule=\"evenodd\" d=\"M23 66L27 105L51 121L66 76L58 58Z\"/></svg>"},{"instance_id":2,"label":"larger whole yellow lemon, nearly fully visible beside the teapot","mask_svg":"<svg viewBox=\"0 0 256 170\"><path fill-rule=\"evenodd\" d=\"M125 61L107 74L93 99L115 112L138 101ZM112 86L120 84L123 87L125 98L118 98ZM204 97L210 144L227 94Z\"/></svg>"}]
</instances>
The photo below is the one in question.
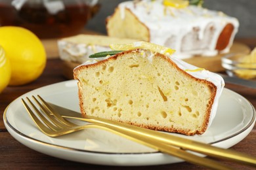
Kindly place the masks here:
<instances>
[{"instance_id":1,"label":"larger whole yellow lemon, nearly fully visible beside the teapot","mask_svg":"<svg viewBox=\"0 0 256 170\"><path fill-rule=\"evenodd\" d=\"M0 27L0 44L11 63L9 85L18 86L37 79L46 64L46 52L39 38L23 27Z\"/></svg>"}]
</instances>

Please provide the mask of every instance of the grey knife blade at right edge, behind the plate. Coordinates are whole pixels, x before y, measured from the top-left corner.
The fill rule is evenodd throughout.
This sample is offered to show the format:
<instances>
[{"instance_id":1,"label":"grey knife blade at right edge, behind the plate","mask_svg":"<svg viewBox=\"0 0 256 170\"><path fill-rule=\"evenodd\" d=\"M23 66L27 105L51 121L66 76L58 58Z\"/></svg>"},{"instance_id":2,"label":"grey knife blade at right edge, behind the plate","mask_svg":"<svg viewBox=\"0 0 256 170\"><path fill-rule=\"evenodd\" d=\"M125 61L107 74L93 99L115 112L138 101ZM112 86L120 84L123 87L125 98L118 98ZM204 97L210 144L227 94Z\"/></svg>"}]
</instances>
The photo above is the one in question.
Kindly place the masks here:
<instances>
[{"instance_id":1,"label":"grey knife blade at right edge, behind the plate","mask_svg":"<svg viewBox=\"0 0 256 170\"><path fill-rule=\"evenodd\" d=\"M228 76L218 73L218 75L222 76L224 79L224 82L230 83L230 84L236 84L239 86L244 86L246 88L253 88L256 89L256 81L253 80L244 80L242 78L234 77L234 76Z\"/></svg>"}]
</instances>

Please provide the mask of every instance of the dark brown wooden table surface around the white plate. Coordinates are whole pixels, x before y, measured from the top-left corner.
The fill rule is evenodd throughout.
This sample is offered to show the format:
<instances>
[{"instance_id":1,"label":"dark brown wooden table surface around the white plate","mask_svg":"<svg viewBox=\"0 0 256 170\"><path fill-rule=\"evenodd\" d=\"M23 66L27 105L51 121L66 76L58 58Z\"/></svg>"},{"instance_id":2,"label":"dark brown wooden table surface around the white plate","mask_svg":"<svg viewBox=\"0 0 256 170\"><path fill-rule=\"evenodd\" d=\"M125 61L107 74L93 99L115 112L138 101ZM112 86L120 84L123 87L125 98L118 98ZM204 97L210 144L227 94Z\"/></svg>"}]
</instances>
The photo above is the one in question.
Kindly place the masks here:
<instances>
[{"instance_id":1,"label":"dark brown wooden table surface around the white plate","mask_svg":"<svg viewBox=\"0 0 256 170\"><path fill-rule=\"evenodd\" d=\"M244 42L250 48L256 45L256 39L238 39L237 41ZM8 87L0 93L0 169L204 169L191 163L174 163L167 165L156 166L142 166L142 167L112 167L91 165L85 163L77 163L74 161L66 161L58 158L53 158L45 154L36 152L16 141L7 131L3 124L3 112L7 105L20 95L30 92L36 88L53 84L55 82L62 82L67 80L62 75L62 61L60 59L48 59L47 66L43 75L41 75L35 82L24 86ZM256 92L251 89L226 84L226 88L230 88L235 92L244 95L254 107L256 107ZM256 156L256 126L251 133L240 143L232 146L233 150L244 152ZM232 165L237 169L252 169L244 165L230 163L223 161L227 165Z\"/></svg>"}]
</instances>

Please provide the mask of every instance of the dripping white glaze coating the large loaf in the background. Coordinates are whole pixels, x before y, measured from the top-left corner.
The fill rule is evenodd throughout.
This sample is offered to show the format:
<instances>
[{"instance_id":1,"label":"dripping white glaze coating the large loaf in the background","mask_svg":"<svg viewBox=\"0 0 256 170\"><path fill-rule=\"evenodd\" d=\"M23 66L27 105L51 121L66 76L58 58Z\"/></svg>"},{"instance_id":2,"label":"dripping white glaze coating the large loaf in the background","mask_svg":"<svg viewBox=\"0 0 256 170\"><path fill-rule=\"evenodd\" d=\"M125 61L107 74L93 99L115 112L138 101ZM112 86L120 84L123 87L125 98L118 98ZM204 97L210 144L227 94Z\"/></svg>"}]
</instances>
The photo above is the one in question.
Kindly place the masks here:
<instances>
[{"instance_id":1,"label":"dripping white glaze coating the large loaf in the background","mask_svg":"<svg viewBox=\"0 0 256 170\"><path fill-rule=\"evenodd\" d=\"M217 39L226 24L234 25L234 31L230 37L228 46L221 52L228 52L234 36L238 31L239 22L236 18L226 16L223 12L208 10L202 7L190 5L184 9L165 7L162 1L127 1L120 3L121 18L125 18L125 9L131 10L133 14L142 22L150 31L150 42L167 46L175 49L175 55L179 58L190 58L194 54L203 56L215 56L218 51L215 50ZM215 31L209 39L204 39L205 28L214 27ZM205 46L203 49L182 51L182 39L185 35L192 33L193 29L198 31L199 46ZM188 41L188 48L194 42Z\"/></svg>"}]
</instances>

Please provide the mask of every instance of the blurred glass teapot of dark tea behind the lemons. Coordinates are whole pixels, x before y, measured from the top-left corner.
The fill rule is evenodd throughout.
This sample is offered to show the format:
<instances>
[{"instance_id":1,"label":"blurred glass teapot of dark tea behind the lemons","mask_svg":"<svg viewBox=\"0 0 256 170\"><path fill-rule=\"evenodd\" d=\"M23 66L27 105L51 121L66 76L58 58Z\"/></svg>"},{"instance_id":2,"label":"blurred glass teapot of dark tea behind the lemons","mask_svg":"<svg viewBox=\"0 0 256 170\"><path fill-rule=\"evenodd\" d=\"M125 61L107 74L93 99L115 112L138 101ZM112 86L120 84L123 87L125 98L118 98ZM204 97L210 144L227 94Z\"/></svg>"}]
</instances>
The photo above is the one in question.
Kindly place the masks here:
<instances>
[{"instance_id":1,"label":"blurred glass teapot of dark tea behind the lemons","mask_svg":"<svg viewBox=\"0 0 256 170\"><path fill-rule=\"evenodd\" d=\"M98 11L98 0L0 0L0 26L30 29L41 39L76 35Z\"/></svg>"}]
</instances>

